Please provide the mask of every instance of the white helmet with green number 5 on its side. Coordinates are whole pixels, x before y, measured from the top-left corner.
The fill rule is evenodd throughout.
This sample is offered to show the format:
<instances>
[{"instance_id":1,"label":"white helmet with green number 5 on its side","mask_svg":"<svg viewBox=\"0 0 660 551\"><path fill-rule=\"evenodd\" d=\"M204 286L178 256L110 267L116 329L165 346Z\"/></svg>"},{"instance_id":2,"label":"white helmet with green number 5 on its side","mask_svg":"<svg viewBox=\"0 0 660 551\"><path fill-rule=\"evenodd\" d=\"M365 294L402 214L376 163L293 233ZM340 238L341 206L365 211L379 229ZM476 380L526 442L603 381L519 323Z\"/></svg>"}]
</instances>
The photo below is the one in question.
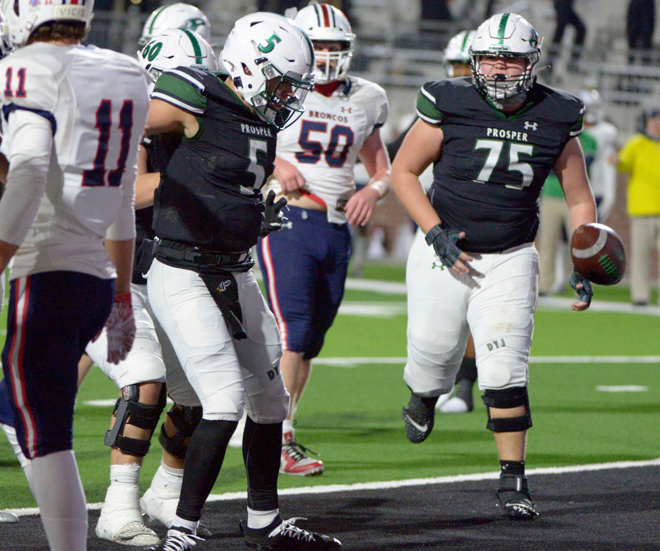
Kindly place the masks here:
<instances>
[{"instance_id":1,"label":"white helmet with green number 5 on its side","mask_svg":"<svg viewBox=\"0 0 660 551\"><path fill-rule=\"evenodd\" d=\"M314 47L293 20L265 12L240 18L220 60L262 119L284 129L302 115L314 89Z\"/></svg>"}]
</instances>

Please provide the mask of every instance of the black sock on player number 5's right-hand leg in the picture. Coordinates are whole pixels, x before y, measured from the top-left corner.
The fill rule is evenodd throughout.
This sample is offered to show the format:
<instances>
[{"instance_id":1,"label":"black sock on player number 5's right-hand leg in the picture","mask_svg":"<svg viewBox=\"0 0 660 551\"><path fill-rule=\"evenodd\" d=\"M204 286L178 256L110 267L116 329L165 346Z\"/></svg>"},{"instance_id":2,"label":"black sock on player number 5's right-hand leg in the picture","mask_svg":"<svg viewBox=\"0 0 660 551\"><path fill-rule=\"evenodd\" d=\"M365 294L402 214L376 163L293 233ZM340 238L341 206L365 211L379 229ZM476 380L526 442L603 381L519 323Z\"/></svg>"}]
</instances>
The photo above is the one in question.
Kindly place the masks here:
<instances>
[{"instance_id":1,"label":"black sock on player number 5's right-hand leg in the picture","mask_svg":"<svg viewBox=\"0 0 660 551\"><path fill-rule=\"evenodd\" d=\"M255 423L246 419L243 460L248 474L248 507L253 511L277 509L277 477L282 453L282 423Z\"/></svg>"}]
</instances>

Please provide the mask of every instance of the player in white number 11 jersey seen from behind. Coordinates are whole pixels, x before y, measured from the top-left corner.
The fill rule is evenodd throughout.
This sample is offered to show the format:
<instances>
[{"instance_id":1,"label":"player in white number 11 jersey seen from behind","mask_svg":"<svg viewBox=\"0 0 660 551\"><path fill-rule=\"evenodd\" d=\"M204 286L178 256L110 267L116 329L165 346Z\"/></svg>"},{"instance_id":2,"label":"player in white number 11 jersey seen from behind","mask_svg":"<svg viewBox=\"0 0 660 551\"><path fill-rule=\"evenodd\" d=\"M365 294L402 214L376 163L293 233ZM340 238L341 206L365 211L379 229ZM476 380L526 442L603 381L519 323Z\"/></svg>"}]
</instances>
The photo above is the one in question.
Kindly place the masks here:
<instances>
[{"instance_id":1,"label":"player in white number 11 jersey seen from behind","mask_svg":"<svg viewBox=\"0 0 660 551\"><path fill-rule=\"evenodd\" d=\"M13 258L3 370L52 550L86 549L73 444L77 362L106 328L125 358L135 320L133 188L149 98L134 59L80 42L92 1L4 0L0 272Z\"/></svg>"}]
</instances>

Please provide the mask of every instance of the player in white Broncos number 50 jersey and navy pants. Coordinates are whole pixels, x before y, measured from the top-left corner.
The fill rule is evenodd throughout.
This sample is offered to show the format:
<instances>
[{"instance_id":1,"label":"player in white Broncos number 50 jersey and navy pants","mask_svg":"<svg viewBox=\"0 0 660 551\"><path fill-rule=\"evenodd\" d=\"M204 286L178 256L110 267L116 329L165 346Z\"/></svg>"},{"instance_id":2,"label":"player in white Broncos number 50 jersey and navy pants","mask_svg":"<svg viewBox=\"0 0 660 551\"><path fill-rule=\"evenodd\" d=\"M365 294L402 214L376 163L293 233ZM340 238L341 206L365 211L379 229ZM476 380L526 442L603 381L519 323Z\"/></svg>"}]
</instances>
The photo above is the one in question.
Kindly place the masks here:
<instances>
[{"instance_id":1,"label":"player in white Broncos number 50 jersey and navy pants","mask_svg":"<svg viewBox=\"0 0 660 551\"><path fill-rule=\"evenodd\" d=\"M257 246L271 309L282 336L280 363L291 405L282 434L281 473L316 475L321 461L296 442L293 418L325 332L344 294L350 233L365 225L389 190L389 158L379 128L387 120L385 91L348 76L355 35L345 14L312 3L296 15L316 57L316 84L305 113L277 137L275 181L290 210L284 229ZM360 157L370 182L355 191Z\"/></svg>"}]
</instances>

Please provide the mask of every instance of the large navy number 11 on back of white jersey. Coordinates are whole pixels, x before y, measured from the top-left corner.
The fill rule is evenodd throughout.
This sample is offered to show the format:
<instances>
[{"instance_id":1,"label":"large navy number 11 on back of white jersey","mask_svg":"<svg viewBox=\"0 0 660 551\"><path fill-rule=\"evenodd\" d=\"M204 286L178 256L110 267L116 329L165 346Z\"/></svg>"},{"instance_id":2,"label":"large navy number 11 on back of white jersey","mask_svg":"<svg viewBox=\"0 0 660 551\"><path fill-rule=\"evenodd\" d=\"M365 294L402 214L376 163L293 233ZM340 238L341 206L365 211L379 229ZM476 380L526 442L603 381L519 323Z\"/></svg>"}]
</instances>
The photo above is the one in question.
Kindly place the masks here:
<instances>
[{"instance_id":1,"label":"large navy number 11 on back of white jersey","mask_svg":"<svg viewBox=\"0 0 660 551\"><path fill-rule=\"evenodd\" d=\"M121 184L121 175L126 168L129 148L131 147L131 129L133 129L133 100L124 100L119 111L119 129L121 130L121 150L115 170L106 170L106 157L110 144L110 126L112 125L112 100L101 100L96 109L96 128L98 129L98 147L94 157L94 168L83 171L82 185L85 187L117 187ZM107 175L107 177L106 177Z\"/></svg>"}]
</instances>

